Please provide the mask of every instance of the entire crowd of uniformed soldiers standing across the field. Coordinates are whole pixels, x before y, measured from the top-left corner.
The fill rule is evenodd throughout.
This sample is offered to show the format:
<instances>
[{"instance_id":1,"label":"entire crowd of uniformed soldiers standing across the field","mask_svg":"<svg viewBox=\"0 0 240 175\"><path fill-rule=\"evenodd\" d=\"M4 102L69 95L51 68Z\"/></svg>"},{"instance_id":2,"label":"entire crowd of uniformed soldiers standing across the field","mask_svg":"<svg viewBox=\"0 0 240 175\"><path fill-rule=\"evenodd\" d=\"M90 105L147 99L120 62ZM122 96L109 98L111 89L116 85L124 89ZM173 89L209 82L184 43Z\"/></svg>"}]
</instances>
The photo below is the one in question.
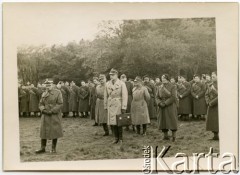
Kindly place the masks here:
<instances>
[{"instance_id":1,"label":"entire crowd of uniformed soldiers standing across the field","mask_svg":"<svg viewBox=\"0 0 240 175\"><path fill-rule=\"evenodd\" d=\"M207 119L206 130L214 133L213 140L219 139L216 72L194 75L189 82L183 75L176 79L168 74L155 80L148 75L131 80L122 74L119 78L116 69L111 69L109 75L109 81L100 74L87 83L82 81L80 87L73 81L54 85L48 80L37 87L19 85L20 116L42 116L41 149L36 153L45 152L46 139L53 141L52 152L56 152L57 138L62 136L61 117L90 116L93 126L103 127L104 136L109 135L110 126L113 143L123 142L123 127L117 125L116 115L124 113L131 114L137 134L146 135L147 125L156 118L163 139L170 139L171 130L174 142L178 120Z\"/></svg>"}]
</instances>

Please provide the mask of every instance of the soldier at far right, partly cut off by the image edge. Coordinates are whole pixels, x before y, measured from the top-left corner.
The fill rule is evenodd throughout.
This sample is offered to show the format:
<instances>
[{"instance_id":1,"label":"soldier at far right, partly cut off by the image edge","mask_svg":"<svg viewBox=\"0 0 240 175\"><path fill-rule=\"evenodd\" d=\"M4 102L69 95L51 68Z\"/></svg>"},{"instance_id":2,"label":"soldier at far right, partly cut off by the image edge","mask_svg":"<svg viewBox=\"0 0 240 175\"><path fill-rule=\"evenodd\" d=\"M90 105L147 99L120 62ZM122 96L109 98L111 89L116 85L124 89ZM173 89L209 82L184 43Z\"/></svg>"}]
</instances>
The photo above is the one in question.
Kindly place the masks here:
<instances>
[{"instance_id":1,"label":"soldier at far right, partly cut off by the image edge","mask_svg":"<svg viewBox=\"0 0 240 175\"><path fill-rule=\"evenodd\" d=\"M212 81L212 85L208 86L205 94L205 99L208 105L206 130L213 132L213 140L218 140L218 86L217 74L215 72L212 73Z\"/></svg>"}]
</instances>

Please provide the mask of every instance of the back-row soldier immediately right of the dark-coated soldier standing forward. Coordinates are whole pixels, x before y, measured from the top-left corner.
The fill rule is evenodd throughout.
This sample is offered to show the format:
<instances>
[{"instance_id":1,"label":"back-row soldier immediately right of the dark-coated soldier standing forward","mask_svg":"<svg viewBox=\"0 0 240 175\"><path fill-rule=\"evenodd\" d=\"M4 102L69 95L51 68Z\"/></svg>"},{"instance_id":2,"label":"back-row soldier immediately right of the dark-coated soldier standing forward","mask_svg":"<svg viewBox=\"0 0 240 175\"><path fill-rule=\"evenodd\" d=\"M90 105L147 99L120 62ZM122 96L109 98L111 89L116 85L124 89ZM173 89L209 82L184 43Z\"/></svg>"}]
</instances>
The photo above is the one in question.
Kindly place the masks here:
<instances>
[{"instance_id":1,"label":"back-row soldier immediately right of the dark-coated soldier standing forward","mask_svg":"<svg viewBox=\"0 0 240 175\"><path fill-rule=\"evenodd\" d=\"M177 94L179 99L178 114L183 120L189 120L192 114L191 84L184 76L178 76Z\"/></svg>"}]
</instances>

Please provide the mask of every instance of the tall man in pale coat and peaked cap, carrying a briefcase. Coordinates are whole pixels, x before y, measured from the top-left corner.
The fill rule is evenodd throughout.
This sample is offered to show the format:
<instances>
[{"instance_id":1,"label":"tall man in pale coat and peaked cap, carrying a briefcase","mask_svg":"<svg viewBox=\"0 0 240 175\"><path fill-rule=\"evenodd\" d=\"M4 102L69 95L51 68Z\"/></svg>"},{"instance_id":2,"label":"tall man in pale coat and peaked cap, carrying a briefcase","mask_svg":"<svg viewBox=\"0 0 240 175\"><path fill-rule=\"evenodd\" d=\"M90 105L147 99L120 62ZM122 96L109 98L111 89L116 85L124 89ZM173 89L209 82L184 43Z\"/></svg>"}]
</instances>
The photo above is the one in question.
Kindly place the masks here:
<instances>
[{"instance_id":1,"label":"tall man in pale coat and peaked cap, carrying a briefcase","mask_svg":"<svg viewBox=\"0 0 240 175\"><path fill-rule=\"evenodd\" d=\"M108 112L108 125L112 125L115 135L113 143L122 143L122 127L117 126L116 115L126 113L128 92L124 82L119 80L118 71L111 69L110 81L107 82L104 92L104 109Z\"/></svg>"}]
</instances>

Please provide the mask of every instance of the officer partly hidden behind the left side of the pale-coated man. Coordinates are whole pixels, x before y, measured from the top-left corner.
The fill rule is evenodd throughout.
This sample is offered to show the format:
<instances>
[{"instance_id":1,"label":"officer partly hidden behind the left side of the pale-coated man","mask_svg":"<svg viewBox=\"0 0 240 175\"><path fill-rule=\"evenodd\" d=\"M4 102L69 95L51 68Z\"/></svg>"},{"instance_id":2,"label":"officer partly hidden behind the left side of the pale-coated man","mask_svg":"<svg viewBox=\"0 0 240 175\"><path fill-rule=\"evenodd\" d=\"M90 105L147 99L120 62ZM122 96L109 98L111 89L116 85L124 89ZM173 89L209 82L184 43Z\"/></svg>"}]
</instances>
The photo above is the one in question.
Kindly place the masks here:
<instances>
[{"instance_id":1,"label":"officer partly hidden behind the left side of the pale-coated man","mask_svg":"<svg viewBox=\"0 0 240 175\"><path fill-rule=\"evenodd\" d=\"M108 129L108 113L107 110L104 109L104 92L105 92L105 86L106 86L106 76L104 74L99 75L99 81L100 84L96 87L96 106L95 106L95 115L96 119L98 119L98 124L102 124L104 135L109 135L109 129Z\"/></svg>"}]
</instances>

